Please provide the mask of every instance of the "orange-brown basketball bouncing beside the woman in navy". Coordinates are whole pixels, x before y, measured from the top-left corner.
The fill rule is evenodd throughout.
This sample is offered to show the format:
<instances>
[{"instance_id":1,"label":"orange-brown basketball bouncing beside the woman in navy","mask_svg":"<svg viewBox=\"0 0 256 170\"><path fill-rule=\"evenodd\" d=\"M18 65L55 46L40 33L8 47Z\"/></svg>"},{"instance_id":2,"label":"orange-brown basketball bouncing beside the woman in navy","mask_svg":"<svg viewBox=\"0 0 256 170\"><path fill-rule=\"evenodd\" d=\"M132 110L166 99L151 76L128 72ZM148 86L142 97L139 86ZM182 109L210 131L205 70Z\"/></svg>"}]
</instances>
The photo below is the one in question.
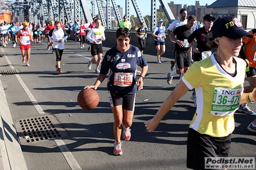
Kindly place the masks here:
<instances>
[{"instance_id":1,"label":"orange-brown basketball bouncing beside the woman in navy","mask_svg":"<svg viewBox=\"0 0 256 170\"><path fill-rule=\"evenodd\" d=\"M99 104L99 95L95 89L82 89L77 100L81 108L91 110Z\"/></svg>"}]
</instances>

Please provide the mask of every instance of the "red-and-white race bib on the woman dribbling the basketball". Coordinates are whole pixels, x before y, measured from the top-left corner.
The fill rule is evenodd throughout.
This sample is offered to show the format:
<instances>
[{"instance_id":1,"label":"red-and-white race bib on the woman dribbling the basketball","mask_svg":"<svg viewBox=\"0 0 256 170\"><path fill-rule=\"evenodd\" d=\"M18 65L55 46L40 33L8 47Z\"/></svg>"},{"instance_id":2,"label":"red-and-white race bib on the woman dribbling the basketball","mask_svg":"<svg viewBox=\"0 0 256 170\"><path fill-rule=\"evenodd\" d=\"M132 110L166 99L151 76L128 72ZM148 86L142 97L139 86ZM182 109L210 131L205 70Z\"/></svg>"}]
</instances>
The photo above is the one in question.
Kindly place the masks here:
<instances>
[{"instance_id":1,"label":"red-and-white race bib on the woman dribbling the basketball","mask_svg":"<svg viewBox=\"0 0 256 170\"><path fill-rule=\"evenodd\" d=\"M118 72L114 75L114 85L120 87L132 86L133 73Z\"/></svg>"}]
</instances>

